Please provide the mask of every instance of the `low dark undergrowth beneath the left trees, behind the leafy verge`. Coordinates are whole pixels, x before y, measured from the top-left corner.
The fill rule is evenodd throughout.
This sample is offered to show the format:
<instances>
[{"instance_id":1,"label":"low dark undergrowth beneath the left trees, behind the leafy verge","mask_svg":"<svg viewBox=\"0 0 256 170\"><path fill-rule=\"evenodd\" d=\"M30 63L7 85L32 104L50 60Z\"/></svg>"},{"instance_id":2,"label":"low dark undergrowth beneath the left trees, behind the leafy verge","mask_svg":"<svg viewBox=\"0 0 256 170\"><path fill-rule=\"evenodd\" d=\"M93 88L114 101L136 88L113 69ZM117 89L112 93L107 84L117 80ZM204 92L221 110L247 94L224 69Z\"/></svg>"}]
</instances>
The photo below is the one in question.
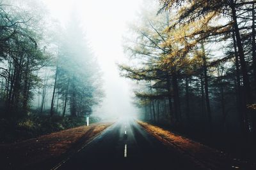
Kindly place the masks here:
<instances>
[{"instance_id":1,"label":"low dark undergrowth beneath the left trees, behind the leafy verge","mask_svg":"<svg viewBox=\"0 0 256 170\"><path fill-rule=\"evenodd\" d=\"M99 117L91 117L90 123L99 122ZM61 117L55 115L29 114L21 120L0 119L0 142L10 143L36 138L51 132L62 131L86 124L84 117Z\"/></svg>"}]
</instances>

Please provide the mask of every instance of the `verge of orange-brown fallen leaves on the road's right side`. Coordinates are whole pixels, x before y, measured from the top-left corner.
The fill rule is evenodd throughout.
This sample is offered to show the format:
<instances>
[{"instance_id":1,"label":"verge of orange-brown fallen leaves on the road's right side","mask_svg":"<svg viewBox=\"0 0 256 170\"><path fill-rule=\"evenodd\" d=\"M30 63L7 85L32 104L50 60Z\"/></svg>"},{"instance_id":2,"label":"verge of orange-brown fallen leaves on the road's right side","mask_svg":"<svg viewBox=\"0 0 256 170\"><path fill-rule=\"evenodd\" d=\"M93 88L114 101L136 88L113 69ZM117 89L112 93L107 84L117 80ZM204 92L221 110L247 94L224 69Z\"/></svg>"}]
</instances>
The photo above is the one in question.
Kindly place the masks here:
<instances>
[{"instance_id":1,"label":"verge of orange-brown fallen leaves on the road's right side","mask_svg":"<svg viewBox=\"0 0 256 170\"><path fill-rule=\"evenodd\" d=\"M198 143L173 132L151 125L146 122L137 121L146 131L150 132L167 146L174 147L182 154L193 159L198 165L206 169L256 169L255 162L247 162L234 158L228 153L221 152L202 143Z\"/></svg>"}]
</instances>

